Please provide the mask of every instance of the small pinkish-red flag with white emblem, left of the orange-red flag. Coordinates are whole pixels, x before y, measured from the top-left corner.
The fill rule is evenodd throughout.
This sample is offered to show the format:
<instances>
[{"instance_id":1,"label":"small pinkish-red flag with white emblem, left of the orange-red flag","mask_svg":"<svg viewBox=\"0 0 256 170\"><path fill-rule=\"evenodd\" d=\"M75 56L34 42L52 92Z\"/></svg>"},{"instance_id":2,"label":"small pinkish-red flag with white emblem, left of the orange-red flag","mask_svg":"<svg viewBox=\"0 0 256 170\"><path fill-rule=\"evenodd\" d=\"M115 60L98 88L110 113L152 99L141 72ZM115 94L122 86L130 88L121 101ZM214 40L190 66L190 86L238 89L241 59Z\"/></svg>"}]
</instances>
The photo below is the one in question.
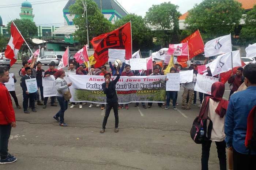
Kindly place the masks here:
<instances>
[{"instance_id":1,"label":"small pinkish-red flag with white emblem, left of the orange-red flag","mask_svg":"<svg viewBox=\"0 0 256 170\"><path fill-rule=\"evenodd\" d=\"M167 54L174 56L188 56L188 43L170 44Z\"/></svg>"}]
</instances>

